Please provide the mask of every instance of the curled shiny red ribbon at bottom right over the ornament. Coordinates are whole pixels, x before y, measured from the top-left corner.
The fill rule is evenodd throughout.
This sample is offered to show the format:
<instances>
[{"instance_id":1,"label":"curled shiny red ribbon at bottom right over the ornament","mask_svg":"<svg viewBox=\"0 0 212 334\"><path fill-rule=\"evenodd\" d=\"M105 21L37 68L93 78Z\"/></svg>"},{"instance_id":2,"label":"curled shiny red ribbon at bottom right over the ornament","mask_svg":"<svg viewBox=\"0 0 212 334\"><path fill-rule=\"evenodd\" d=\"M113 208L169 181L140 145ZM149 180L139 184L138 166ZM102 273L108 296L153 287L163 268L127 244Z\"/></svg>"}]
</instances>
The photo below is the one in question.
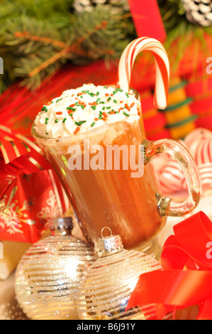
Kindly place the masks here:
<instances>
[{"instance_id":1,"label":"curled shiny red ribbon at bottom right over the ornament","mask_svg":"<svg viewBox=\"0 0 212 334\"><path fill-rule=\"evenodd\" d=\"M164 270L140 275L128 309L155 303L159 320L198 305L196 320L212 320L212 222L203 212L174 226L161 264Z\"/></svg>"}]
</instances>

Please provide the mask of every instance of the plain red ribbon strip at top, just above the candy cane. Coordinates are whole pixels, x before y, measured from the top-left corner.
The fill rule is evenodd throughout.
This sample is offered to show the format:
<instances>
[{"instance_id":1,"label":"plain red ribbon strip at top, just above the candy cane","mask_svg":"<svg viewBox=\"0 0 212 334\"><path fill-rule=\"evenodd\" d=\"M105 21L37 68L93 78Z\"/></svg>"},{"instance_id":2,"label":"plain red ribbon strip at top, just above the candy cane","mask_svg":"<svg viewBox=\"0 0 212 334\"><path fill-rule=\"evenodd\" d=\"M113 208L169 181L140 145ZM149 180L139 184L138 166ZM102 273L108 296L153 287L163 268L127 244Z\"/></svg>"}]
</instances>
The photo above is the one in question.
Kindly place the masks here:
<instances>
[{"instance_id":1,"label":"plain red ribbon strip at top, just above the candy cane","mask_svg":"<svg viewBox=\"0 0 212 334\"><path fill-rule=\"evenodd\" d=\"M166 32L157 0L128 0L138 37L148 36L164 41Z\"/></svg>"}]
</instances>

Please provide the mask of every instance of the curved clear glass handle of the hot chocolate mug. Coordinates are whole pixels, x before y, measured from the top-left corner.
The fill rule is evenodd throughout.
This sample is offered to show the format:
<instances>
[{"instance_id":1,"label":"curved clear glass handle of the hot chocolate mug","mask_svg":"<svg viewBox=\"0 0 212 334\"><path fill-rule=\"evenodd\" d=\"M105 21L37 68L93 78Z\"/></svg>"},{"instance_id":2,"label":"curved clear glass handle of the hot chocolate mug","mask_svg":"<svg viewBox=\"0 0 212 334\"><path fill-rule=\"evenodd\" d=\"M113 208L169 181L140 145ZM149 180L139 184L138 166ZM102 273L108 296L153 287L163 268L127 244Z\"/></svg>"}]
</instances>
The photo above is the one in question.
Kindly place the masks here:
<instances>
[{"instance_id":1,"label":"curved clear glass handle of the hot chocolate mug","mask_svg":"<svg viewBox=\"0 0 212 334\"><path fill-rule=\"evenodd\" d=\"M162 139L158 141L143 142L144 146L144 163L145 165L159 153L168 153L174 156L182 168L188 184L189 195L183 199L158 198L158 208L162 216L169 215L179 217L187 215L193 211L199 203L201 197L201 178L199 170L189 151L172 139Z\"/></svg>"}]
</instances>

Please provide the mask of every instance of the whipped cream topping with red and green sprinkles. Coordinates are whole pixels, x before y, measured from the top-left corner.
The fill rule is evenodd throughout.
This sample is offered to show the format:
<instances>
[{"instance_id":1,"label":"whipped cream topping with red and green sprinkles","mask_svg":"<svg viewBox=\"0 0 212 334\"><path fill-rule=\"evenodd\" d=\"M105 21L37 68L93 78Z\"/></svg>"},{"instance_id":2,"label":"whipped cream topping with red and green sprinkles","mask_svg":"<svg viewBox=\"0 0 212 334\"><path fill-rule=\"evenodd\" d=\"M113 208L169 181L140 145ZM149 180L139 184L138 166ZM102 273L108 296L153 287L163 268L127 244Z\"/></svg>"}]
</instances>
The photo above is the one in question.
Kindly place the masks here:
<instances>
[{"instance_id":1,"label":"whipped cream topping with red and green sprinkles","mask_svg":"<svg viewBox=\"0 0 212 334\"><path fill-rule=\"evenodd\" d=\"M57 138L115 122L133 123L140 118L139 104L133 91L84 84L45 104L35 118L35 131L41 136Z\"/></svg>"}]
</instances>

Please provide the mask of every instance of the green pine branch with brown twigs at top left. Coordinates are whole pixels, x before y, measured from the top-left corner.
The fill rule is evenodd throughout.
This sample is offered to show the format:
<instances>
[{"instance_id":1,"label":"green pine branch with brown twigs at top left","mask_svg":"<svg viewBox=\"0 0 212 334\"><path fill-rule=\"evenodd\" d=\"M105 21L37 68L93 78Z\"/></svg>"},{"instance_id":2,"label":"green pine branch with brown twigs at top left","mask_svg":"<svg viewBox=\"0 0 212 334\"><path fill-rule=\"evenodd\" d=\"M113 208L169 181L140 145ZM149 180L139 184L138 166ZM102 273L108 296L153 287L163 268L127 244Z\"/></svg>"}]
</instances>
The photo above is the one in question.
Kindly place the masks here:
<instances>
[{"instance_id":1,"label":"green pine branch with brown twigs at top left","mask_svg":"<svg viewBox=\"0 0 212 334\"><path fill-rule=\"evenodd\" d=\"M16 77L22 77L27 87L39 87L44 77L67 61L82 65L117 58L135 33L130 15L123 15L121 7L116 14L111 14L111 6L96 6L75 16L72 0L34 0L32 5L28 0L11 0L10 5L0 0L0 4L0 56L11 55L0 92Z\"/></svg>"}]
</instances>

